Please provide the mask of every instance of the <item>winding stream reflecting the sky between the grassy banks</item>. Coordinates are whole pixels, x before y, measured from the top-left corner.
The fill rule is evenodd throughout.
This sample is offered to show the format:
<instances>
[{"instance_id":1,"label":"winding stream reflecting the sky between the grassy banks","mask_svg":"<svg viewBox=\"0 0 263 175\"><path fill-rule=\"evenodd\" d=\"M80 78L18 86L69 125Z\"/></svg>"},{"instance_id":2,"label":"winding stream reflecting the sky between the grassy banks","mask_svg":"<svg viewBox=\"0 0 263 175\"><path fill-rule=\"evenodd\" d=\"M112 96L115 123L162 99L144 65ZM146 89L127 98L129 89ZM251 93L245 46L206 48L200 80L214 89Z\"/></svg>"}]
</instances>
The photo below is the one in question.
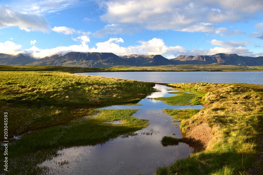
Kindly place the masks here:
<instances>
[{"instance_id":1,"label":"winding stream reflecting the sky between the grassy banks","mask_svg":"<svg viewBox=\"0 0 263 175\"><path fill-rule=\"evenodd\" d=\"M188 157L194 151L185 143L164 147L161 138L164 135L182 138L179 126L173 126L171 116L162 109L201 109L203 106L171 106L157 97L169 97L171 88L156 84L159 92L142 99L138 106L116 105L102 109L140 109L133 117L148 119L150 125L137 131L137 136L117 137L97 146L83 146L64 149L58 153L62 156L44 162L42 165L52 167L51 174L154 174L157 166L169 166L177 159ZM180 124L180 123L175 123ZM151 133L150 135L145 133ZM69 165L59 168L55 162L69 161Z\"/></svg>"}]
</instances>

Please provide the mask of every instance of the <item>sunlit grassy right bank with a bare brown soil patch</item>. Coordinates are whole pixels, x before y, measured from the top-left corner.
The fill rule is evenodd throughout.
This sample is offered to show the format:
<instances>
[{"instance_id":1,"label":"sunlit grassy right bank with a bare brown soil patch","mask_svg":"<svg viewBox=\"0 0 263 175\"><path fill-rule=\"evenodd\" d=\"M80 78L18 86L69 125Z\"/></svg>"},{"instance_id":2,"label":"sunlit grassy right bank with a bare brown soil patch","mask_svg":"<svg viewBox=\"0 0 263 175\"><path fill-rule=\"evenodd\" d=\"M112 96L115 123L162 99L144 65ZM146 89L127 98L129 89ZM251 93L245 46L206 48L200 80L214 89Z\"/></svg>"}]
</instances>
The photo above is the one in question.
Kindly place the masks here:
<instances>
[{"instance_id":1,"label":"sunlit grassy right bank with a bare brown soil patch","mask_svg":"<svg viewBox=\"0 0 263 175\"><path fill-rule=\"evenodd\" d=\"M176 83L169 86L201 97L199 101L205 108L200 111L167 109L164 112L180 120L185 138L198 141L203 149L167 167L159 167L156 174L262 172L262 85Z\"/></svg>"}]
</instances>

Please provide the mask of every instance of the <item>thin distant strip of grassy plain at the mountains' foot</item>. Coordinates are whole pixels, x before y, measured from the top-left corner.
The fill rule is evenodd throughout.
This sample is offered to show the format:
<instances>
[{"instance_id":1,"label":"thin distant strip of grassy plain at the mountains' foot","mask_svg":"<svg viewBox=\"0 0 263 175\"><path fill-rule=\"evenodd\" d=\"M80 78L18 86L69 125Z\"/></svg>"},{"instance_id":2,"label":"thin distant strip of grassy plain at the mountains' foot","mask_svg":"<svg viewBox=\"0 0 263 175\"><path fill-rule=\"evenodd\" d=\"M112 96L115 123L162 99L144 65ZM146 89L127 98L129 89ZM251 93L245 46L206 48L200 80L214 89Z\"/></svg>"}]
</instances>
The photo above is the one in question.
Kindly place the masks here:
<instances>
[{"instance_id":1,"label":"thin distant strip of grassy plain at the mountains' foot","mask_svg":"<svg viewBox=\"0 0 263 175\"><path fill-rule=\"evenodd\" d=\"M165 66L115 66L111 68L59 67L59 66L0 66L0 71L60 71L79 72L138 72L138 71L263 71L263 66L234 65L165 65Z\"/></svg>"}]
</instances>

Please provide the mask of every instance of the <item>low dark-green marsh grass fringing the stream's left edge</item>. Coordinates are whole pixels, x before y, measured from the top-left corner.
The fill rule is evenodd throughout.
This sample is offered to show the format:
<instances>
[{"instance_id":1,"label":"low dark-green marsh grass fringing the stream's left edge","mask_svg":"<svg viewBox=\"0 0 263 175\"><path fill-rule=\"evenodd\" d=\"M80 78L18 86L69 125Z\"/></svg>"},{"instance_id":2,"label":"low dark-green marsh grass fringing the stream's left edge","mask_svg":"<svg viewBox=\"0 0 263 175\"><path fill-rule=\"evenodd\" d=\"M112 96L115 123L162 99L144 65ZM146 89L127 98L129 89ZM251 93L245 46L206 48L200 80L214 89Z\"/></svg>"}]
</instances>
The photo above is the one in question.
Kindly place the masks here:
<instances>
[{"instance_id":1,"label":"low dark-green marsh grass fringing the stream's left edge","mask_svg":"<svg viewBox=\"0 0 263 175\"><path fill-rule=\"evenodd\" d=\"M122 135L122 137L133 136L133 132L148 126L148 120L131 116L136 111L137 109L93 110L90 115L73 120L69 125L26 133L8 146L8 161L12 168L6 174L19 174L28 166L28 174L45 174L49 170L48 167L39 165L45 160L59 156L56 153L58 150L103 144ZM123 124L105 123L116 120L122 120ZM3 173L3 169L0 172Z\"/></svg>"}]
</instances>

